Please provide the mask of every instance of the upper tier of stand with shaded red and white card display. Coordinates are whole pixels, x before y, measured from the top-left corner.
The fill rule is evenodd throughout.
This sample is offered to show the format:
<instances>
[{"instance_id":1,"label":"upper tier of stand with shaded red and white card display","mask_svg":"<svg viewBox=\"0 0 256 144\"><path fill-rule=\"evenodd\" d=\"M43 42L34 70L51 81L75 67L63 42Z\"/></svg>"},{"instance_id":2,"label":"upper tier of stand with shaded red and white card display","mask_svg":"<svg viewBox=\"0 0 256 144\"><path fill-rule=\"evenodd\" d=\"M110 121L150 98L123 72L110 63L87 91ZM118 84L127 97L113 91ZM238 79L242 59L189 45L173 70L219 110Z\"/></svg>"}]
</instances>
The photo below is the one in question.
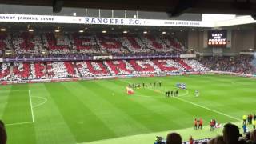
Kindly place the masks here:
<instances>
[{"instance_id":1,"label":"upper tier of stand with shaded red and white card display","mask_svg":"<svg viewBox=\"0 0 256 144\"><path fill-rule=\"evenodd\" d=\"M178 39L164 34L0 33L0 58L166 55L184 51Z\"/></svg>"}]
</instances>

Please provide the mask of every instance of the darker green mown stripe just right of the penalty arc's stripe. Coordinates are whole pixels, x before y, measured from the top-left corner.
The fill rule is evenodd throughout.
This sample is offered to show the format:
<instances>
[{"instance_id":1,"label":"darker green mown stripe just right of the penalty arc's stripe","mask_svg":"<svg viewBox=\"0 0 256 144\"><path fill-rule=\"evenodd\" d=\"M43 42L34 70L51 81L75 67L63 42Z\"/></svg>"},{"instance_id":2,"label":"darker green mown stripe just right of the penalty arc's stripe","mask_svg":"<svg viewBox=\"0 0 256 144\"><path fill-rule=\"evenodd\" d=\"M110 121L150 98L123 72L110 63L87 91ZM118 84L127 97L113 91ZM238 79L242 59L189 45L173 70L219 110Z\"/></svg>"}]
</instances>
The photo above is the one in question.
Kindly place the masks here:
<instances>
[{"instance_id":1,"label":"darker green mown stripe just right of the penalty arc's stripe","mask_svg":"<svg viewBox=\"0 0 256 144\"><path fill-rule=\"evenodd\" d=\"M47 83L46 89L77 142L90 142L115 137L115 134L94 112L88 109L76 95L72 94L70 89L62 86L62 83Z\"/></svg>"}]
</instances>

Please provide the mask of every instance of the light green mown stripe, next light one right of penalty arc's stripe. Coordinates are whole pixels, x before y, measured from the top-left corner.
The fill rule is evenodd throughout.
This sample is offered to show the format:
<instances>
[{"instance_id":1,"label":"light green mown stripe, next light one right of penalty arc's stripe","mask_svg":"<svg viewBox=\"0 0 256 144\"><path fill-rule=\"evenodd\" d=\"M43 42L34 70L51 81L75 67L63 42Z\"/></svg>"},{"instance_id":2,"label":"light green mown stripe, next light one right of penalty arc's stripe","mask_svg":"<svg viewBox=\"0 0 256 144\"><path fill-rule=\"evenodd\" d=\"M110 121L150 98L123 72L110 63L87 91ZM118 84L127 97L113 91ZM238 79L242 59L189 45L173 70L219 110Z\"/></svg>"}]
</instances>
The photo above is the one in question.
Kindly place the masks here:
<instances>
[{"instance_id":1,"label":"light green mown stripe, next light one right of penalty arc's stripe","mask_svg":"<svg viewBox=\"0 0 256 144\"><path fill-rule=\"evenodd\" d=\"M77 91L78 98L83 102L102 122L106 124L116 134L116 137L133 134L134 131L148 132L145 126L136 122L129 115L113 106L106 99L98 96L98 90L93 84L87 85L87 82L65 83L66 87ZM78 91L80 90L80 91ZM84 94L84 91L87 93ZM93 97L93 98L92 98ZM106 109L106 110L105 110ZM118 118L116 117L118 115ZM118 126L117 126L118 125Z\"/></svg>"}]
</instances>

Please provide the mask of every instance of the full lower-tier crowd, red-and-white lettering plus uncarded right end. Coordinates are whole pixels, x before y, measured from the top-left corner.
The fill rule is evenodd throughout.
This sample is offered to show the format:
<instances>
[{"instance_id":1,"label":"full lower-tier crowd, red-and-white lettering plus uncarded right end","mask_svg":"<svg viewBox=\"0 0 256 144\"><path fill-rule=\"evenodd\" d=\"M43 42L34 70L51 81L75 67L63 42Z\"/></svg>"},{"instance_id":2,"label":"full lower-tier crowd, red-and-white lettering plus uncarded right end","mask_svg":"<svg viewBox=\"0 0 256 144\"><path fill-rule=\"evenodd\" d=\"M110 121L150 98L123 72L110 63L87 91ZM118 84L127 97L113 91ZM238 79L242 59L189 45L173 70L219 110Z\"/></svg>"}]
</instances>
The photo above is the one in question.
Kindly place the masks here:
<instances>
[{"instance_id":1,"label":"full lower-tier crowd, red-and-white lettering plus uncarded right end","mask_svg":"<svg viewBox=\"0 0 256 144\"><path fill-rule=\"evenodd\" d=\"M253 57L168 58L78 62L2 62L0 81L174 74L208 70L255 74Z\"/></svg>"}]
</instances>

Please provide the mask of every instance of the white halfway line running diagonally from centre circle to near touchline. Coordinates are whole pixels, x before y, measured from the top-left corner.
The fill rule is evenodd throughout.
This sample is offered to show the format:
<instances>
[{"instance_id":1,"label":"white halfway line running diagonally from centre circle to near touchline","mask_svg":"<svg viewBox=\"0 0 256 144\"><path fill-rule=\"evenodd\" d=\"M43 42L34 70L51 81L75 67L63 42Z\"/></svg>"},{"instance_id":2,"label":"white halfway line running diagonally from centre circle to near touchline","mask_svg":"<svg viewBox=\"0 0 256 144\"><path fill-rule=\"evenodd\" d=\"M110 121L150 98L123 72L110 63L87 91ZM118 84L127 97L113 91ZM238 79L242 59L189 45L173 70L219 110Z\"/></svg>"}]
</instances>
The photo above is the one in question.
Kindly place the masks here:
<instances>
[{"instance_id":1,"label":"white halfway line running diagonally from centre circle to near touchline","mask_svg":"<svg viewBox=\"0 0 256 144\"><path fill-rule=\"evenodd\" d=\"M151 89L149 89L149 90L151 90ZM153 91L154 91L154 92L157 92L157 93L160 93L160 94L163 94L162 91L160 91L160 90L153 90ZM226 117L228 117L228 118L232 118L232 119L235 119L235 120L238 120L238 121L241 120L241 119L235 118L235 117L233 117L233 116L231 116L231 115L224 114L224 113L222 113L222 112L220 112L220 111L218 111L218 110L213 110L213 109L210 109L210 108L208 108L208 107L206 107L206 106L201 106L201 105L198 105L198 104L196 104L196 103L194 103L194 102L189 102L189 101L187 101L187 100L185 100L185 99L183 99L183 98L178 98L178 97L174 97L174 98L178 99L179 101L186 102L186 103L190 103L191 105L198 106L198 107L201 107L201 108L203 108L203 109L212 111L212 112L214 112L214 113L222 114L222 115L224 115L224 116L226 116Z\"/></svg>"}]
</instances>

